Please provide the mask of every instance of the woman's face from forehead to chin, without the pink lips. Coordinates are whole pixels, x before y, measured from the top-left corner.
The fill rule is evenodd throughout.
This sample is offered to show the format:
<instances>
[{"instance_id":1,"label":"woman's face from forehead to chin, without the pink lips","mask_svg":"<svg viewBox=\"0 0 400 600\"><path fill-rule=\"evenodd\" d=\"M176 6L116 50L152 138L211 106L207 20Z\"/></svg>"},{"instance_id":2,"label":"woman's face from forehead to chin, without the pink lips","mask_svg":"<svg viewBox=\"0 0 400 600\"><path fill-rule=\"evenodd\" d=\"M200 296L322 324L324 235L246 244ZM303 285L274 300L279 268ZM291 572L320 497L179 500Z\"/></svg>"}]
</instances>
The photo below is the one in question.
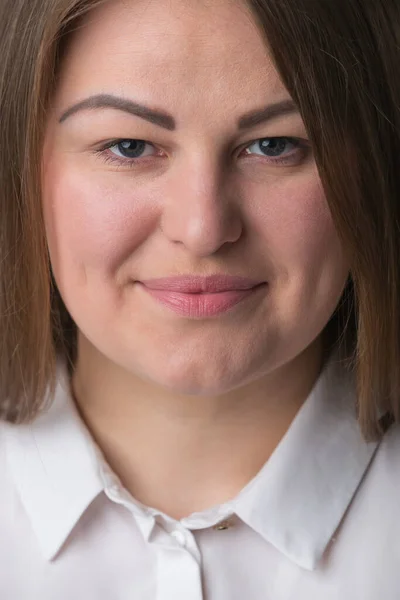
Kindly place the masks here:
<instances>
[{"instance_id":1,"label":"woman's face from forehead to chin, without the pink lips","mask_svg":"<svg viewBox=\"0 0 400 600\"><path fill-rule=\"evenodd\" d=\"M52 268L80 335L176 392L267 375L321 333L348 265L299 114L243 118L290 100L246 5L114 0L83 25L43 160ZM65 115L99 94L170 116ZM265 285L210 316L178 314L139 283L213 274Z\"/></svg>"}]
</instances>

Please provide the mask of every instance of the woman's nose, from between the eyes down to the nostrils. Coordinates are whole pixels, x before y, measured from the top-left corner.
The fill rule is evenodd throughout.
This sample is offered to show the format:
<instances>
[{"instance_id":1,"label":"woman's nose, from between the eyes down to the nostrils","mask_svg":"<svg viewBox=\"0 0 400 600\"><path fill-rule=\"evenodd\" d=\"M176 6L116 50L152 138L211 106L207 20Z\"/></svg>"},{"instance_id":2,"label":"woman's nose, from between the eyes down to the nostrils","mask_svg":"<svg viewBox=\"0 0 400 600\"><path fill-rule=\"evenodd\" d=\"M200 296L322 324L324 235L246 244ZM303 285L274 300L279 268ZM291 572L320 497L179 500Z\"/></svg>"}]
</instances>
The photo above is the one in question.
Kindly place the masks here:
<instances>
[{"instance_id":1,"label":"woman's nose, from between the eyes down to the nostrils","mask_svg":"<svg viewBox=\"0 0 400 600\"><path fill-rule=\"evenodd\" d=\"M192 255L209 256L242 236L240 204L232 182L208 156L176 164L163 199L162 231Z\"/></svg>"}]
</instances>

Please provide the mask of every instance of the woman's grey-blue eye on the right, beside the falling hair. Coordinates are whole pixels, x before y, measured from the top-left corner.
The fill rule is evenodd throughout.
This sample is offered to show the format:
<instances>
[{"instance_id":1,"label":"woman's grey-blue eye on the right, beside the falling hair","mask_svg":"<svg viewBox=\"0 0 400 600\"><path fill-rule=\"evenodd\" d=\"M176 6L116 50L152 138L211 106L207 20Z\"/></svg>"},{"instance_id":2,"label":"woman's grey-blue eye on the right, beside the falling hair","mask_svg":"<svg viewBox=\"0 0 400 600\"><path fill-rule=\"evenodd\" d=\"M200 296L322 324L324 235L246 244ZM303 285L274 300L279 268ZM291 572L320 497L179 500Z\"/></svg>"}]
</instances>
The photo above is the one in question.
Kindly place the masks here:
<instances>
[{"instance_id":1,"label":"woman's grey-blue eye on the right, beside the falling hair","mask_svg":"<svg viewBox=\"0 0 400 600\"><path fill-rule=\"evenodd\" d=\"M309 152L308 144L298 138L270 137L252 142L244 150L245 156L256 154L269 159L268 162L296 162Z\"/></svg>"}]
</instances>

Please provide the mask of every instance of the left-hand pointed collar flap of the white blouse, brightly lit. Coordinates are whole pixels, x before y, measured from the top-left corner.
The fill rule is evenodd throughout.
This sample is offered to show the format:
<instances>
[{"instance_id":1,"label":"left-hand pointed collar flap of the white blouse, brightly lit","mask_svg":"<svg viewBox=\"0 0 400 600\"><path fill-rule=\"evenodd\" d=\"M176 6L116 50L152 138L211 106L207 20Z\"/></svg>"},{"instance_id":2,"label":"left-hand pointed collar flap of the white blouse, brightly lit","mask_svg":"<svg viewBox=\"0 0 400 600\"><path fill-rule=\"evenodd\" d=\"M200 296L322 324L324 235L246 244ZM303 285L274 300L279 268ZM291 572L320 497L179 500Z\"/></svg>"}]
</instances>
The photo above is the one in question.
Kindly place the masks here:
<instances>
[{"instance_id":1,"label":"left-hand pointed collar flap of the white blouse, brightly lit","mask_svg":"<svg viewBox=\"0 0 400 600\"><path fill-rule=\"evenodd\" d=\"M20 498L51 560L89 504L104 489L96 445L58 362L54 402L32 423L7 425L7 458Z\"/></svg>"}]
</instances>

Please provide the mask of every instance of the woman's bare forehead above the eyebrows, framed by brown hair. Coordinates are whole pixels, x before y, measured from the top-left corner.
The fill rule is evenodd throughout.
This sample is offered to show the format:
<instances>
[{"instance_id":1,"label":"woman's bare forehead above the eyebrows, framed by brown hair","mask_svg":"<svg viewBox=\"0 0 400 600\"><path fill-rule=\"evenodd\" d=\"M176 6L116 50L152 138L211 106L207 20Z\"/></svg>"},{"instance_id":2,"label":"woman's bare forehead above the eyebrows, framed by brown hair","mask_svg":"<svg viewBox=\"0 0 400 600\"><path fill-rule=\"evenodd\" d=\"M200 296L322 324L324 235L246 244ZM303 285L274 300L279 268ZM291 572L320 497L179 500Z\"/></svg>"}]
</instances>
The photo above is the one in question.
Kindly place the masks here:
<instances>
[{"instance_id":1,"label":"woman's bare forehead above the eyebrows, framed by brown hair","mask_svg":"<svg viewBox=\"0 0 400 600\"><path fill-rule=\"evenodd\" d=\"M113 0L94 9L70 39L59 93L135 97L138 88L143 100L172 103L229 96L248 106L287 95L241 0Z\"/></svg>"}]
</instances>

